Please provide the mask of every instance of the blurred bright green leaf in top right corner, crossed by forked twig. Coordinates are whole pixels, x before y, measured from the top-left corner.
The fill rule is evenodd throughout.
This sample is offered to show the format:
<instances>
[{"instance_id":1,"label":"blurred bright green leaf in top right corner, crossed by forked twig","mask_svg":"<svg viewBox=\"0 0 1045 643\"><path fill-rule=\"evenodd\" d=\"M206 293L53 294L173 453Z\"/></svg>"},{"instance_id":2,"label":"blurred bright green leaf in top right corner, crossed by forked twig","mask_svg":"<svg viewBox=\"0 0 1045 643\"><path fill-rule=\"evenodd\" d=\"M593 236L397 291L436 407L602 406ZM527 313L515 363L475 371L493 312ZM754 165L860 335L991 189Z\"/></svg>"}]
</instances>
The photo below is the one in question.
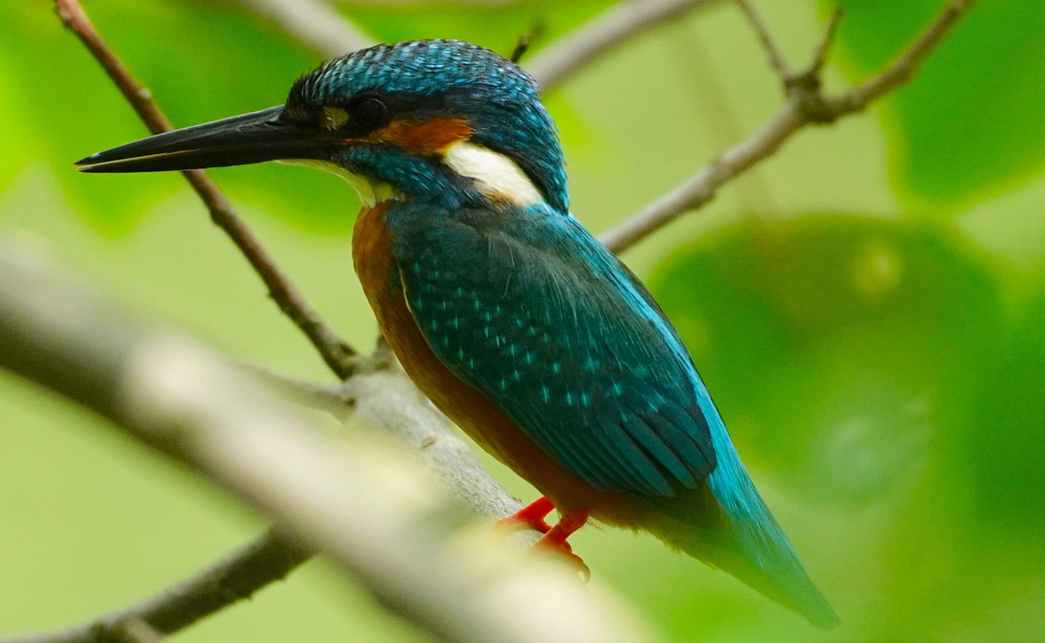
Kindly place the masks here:
<instances>
[{"instance_id":1,"label":"blurred bright green leaf in top right corner, crossed by forked twig","mask_svg":"<svg viewBox=\"0 0 1045 643\"><path fill-rule=\"evenodd\" d=\"M854 79L876 73L932 19L943 0L839 0L839 41ZM913 81L885 99L895 180L915 203L983 198L1045 164L1045 11L983 0Z\"/></svg>"}]
</instances>

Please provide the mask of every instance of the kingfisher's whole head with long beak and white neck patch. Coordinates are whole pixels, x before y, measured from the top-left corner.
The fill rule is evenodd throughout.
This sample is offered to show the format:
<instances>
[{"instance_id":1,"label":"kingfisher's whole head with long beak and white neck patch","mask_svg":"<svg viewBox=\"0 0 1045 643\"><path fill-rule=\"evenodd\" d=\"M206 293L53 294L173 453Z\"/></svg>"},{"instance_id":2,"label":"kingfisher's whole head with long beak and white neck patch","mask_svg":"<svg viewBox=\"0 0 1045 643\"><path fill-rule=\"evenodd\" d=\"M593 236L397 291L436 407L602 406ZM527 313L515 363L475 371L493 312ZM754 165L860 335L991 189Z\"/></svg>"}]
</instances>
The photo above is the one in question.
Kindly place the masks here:
<instances>
[{"instance_id":1,"label":"kingfisher's whole head with long beak and white neck patch","mask_svg":"<svg viewBox=\"0 0 1045 643\"><path fill-rule=\"evenodd\" d=\"M330 169L368 205L568 209L562 149L533 78L488 49L449 40L361 49L299 78L282 105L76 164L85 172L147 172L263 161Z\"/></svg>"}]
</instances>

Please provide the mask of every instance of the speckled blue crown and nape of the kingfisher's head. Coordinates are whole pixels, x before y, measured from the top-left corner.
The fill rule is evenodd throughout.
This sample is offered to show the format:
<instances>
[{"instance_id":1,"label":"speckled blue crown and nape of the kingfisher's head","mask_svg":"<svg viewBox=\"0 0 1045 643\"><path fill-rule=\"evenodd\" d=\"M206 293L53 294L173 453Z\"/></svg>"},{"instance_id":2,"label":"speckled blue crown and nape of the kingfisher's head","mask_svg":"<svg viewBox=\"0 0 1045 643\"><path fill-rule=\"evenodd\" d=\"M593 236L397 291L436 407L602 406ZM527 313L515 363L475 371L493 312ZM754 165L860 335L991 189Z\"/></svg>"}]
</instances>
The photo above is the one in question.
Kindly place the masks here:
<instances>
[{"instance_id":1,"label":"speckled blue crown and nape of the kingfisher's head","mask_svg":"<svg viewBox=\"0 0 1045 643\"><path fill-rule=\"evenodd\" d=\"M287 106L317 111L361 94L387 97L413 118L461 117L471 141L510 157L556 210L568 210L562 148L537 85L502 55L471 43L377 45L325 63L291 89Z\"/></svg>"}]
</instances>

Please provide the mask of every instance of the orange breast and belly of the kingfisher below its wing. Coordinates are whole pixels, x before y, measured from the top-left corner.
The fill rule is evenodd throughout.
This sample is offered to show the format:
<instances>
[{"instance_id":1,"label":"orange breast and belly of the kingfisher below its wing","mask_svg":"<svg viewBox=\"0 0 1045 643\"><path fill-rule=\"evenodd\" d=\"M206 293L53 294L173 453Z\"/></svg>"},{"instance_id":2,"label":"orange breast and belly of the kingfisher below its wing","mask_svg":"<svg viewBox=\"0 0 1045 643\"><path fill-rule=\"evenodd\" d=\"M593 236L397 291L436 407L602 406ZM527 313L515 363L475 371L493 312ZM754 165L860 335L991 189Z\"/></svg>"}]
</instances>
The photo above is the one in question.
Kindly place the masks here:
<instances>
[{"instance_id":1,"label":"orange breast and belly of the kingfisher below its wing","mask_svg":"<svg viewBox=\"0 0 1045 643\"><path fill-rule=\"evenodd\" d=\"M645 514L617 493L594 489L560 467L530 439L488 397L449 372L428 347L407 307L392 261L392 237L385 206L359 213L352 235L352 259L385 338L407 374L447 418L483 449L537 487L562 510L637 527Z\"/></svg>"}]
</instances>

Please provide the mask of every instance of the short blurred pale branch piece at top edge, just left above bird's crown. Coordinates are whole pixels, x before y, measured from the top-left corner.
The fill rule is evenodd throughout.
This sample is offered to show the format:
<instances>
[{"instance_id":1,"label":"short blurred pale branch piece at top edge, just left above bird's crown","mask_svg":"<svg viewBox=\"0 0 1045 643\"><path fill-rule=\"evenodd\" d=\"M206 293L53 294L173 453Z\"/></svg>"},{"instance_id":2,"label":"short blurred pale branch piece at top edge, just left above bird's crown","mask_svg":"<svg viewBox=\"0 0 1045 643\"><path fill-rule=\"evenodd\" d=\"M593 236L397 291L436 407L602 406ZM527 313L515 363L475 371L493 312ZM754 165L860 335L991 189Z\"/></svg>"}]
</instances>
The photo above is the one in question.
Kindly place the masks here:
<instances>
[{"instance_id":1,"label":"short blurred pale branch piece at top edge, just left above bird's crown","mask_svg":"<svg viewBox=\"0 0 1045 643\"><path fill-rule=\"evenodd\" d=\"M323 0L237 0L326 58L376 44Z\"/></svg>"}]
</instances>

